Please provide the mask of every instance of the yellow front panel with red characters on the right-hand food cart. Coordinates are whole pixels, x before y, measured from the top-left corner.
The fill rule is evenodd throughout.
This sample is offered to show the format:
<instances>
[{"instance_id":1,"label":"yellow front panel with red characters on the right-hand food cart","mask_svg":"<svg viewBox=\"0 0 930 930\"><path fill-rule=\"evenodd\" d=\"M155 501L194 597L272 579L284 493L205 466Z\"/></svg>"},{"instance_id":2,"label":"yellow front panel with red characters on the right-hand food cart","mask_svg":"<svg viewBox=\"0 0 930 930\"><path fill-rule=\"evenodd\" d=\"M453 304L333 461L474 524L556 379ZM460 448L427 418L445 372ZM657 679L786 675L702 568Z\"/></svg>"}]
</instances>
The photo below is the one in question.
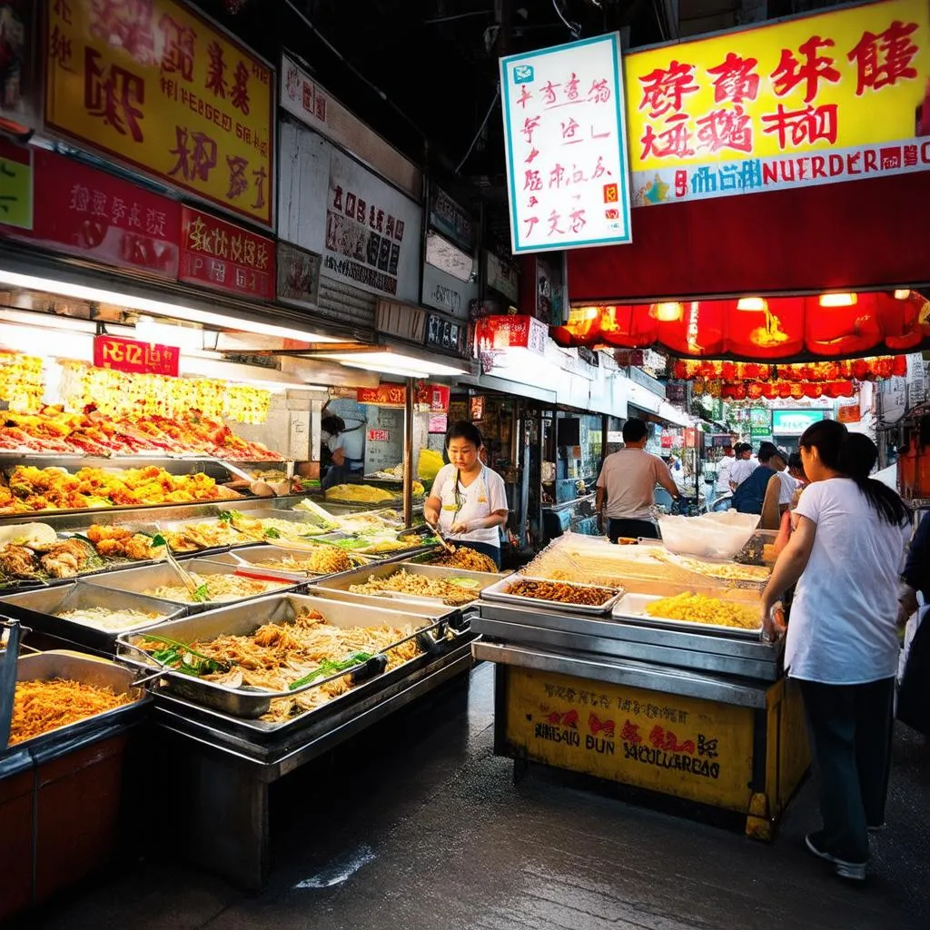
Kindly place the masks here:
<instances>
[{"instance_id":1,"label":"yellow front panel with red characters on the right-hand food cart","mask_svg":"<svg viewBox=\"0 0 930 930\"><path fill-rule=\"evenodd\" d=\"M749 809L751 709L548 671L507 672L505 738L526 758Z\"/></svg>"}]
</instances>

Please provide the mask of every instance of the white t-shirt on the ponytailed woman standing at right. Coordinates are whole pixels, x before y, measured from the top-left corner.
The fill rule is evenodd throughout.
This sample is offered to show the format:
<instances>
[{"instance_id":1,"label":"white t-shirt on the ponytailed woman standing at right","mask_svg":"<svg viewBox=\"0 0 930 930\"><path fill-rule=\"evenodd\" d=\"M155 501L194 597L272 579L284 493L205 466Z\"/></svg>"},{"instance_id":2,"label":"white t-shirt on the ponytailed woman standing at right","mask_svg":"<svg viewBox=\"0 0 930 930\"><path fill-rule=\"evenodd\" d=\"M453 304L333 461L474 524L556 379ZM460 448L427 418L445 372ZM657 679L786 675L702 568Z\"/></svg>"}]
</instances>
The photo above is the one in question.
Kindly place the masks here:
<instances>
[{"instance_id":1,"label":"white t-shirt on the ponytailed woman standing at right","mask_svg":"<svg viewBox=\"0 0 930 930\"><path fill-rule=\"evenodd\" d=\"M797 513L817 524L791 604L792 678L866 684L897 673L897 578L910 526L879 519L849 478L804 488Z\"/></svg>"}]
</instances>

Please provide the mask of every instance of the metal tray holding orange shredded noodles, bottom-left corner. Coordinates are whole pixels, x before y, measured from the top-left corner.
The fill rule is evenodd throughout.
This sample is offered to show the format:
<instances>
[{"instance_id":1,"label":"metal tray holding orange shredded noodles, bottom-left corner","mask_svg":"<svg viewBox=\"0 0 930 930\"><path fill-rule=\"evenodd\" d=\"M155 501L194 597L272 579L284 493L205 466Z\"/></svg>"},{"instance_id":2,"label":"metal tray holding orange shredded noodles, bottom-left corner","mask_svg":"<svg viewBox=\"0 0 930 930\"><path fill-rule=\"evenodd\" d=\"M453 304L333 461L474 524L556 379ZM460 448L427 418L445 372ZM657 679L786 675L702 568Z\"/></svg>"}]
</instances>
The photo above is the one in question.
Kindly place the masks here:
<instances>
[{"instance_id":1,"label":"metal tray holding orange shredded noodles, bottom-left corner","mask_svg":"<svg viewBox=\"0 0 930 930\"><path fill-rule=\"evenodd\" d=\"M56 727L38 737L24 739L15 746L0 749L0 757L7 752L19 752L24 749L38 752L51 749L55 744L65 740L72 741L95 730L103 729L109 724L128 723L143 712L143 708L152 702L152 698L135 683L136 674L132 669L104 658L82 656L68 650L40 652L32 656L22 656L16 663L17 681L50 681L64 678L70 681L109 687L115 694L131 694L131 704L114 708L112 711L94 714L74 724Z\"/></svg>"}]
</instances>

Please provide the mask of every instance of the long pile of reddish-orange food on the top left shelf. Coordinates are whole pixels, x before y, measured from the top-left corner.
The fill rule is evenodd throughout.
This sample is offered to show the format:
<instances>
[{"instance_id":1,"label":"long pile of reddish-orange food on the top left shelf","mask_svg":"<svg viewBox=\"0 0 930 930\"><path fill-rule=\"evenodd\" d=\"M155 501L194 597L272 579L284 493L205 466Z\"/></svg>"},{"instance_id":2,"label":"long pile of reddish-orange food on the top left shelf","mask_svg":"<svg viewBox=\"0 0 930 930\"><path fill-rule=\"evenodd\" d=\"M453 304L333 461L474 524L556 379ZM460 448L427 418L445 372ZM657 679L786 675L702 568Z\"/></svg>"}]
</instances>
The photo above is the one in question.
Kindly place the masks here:
<instances>
[{"instance_id":1,"label":"long pile of reddish-orange food on the top left shelf","mask_svg":"<svg viewBox=\"0 0 930 930\"><path fill-rule=\"evenodd\" d=\"M195 410L186 417L106 417L65 413L47 405L39 413L7 411L0 416L0 449L61 455L139 455L166 452L206 455L233 461L281 461L261 443L237 436L219 419Z\"/></svg>"}]
</instances>

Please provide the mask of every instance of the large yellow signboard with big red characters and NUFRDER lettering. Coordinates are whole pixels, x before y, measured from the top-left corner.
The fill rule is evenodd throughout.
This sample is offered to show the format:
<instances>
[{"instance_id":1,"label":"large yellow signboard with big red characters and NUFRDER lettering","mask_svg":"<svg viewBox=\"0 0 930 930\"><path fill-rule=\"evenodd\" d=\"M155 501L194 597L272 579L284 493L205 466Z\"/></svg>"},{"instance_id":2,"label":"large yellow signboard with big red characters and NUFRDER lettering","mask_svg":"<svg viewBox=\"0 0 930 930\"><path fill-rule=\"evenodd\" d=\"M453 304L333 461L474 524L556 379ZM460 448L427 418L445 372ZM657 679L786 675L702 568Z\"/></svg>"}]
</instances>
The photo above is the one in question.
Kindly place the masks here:
<instances>
[{"instance_id":1,"label":"large yellow signboard with big red characters and NUFRDER lettering","mask_svg":"<svg viewBox=\"0 0 930 930\"><path fill-rule=\"evenodd\" d=\"M632 205L930 167L930 5L880 0L627 55Z\"/></svg>"}]
</instances>

